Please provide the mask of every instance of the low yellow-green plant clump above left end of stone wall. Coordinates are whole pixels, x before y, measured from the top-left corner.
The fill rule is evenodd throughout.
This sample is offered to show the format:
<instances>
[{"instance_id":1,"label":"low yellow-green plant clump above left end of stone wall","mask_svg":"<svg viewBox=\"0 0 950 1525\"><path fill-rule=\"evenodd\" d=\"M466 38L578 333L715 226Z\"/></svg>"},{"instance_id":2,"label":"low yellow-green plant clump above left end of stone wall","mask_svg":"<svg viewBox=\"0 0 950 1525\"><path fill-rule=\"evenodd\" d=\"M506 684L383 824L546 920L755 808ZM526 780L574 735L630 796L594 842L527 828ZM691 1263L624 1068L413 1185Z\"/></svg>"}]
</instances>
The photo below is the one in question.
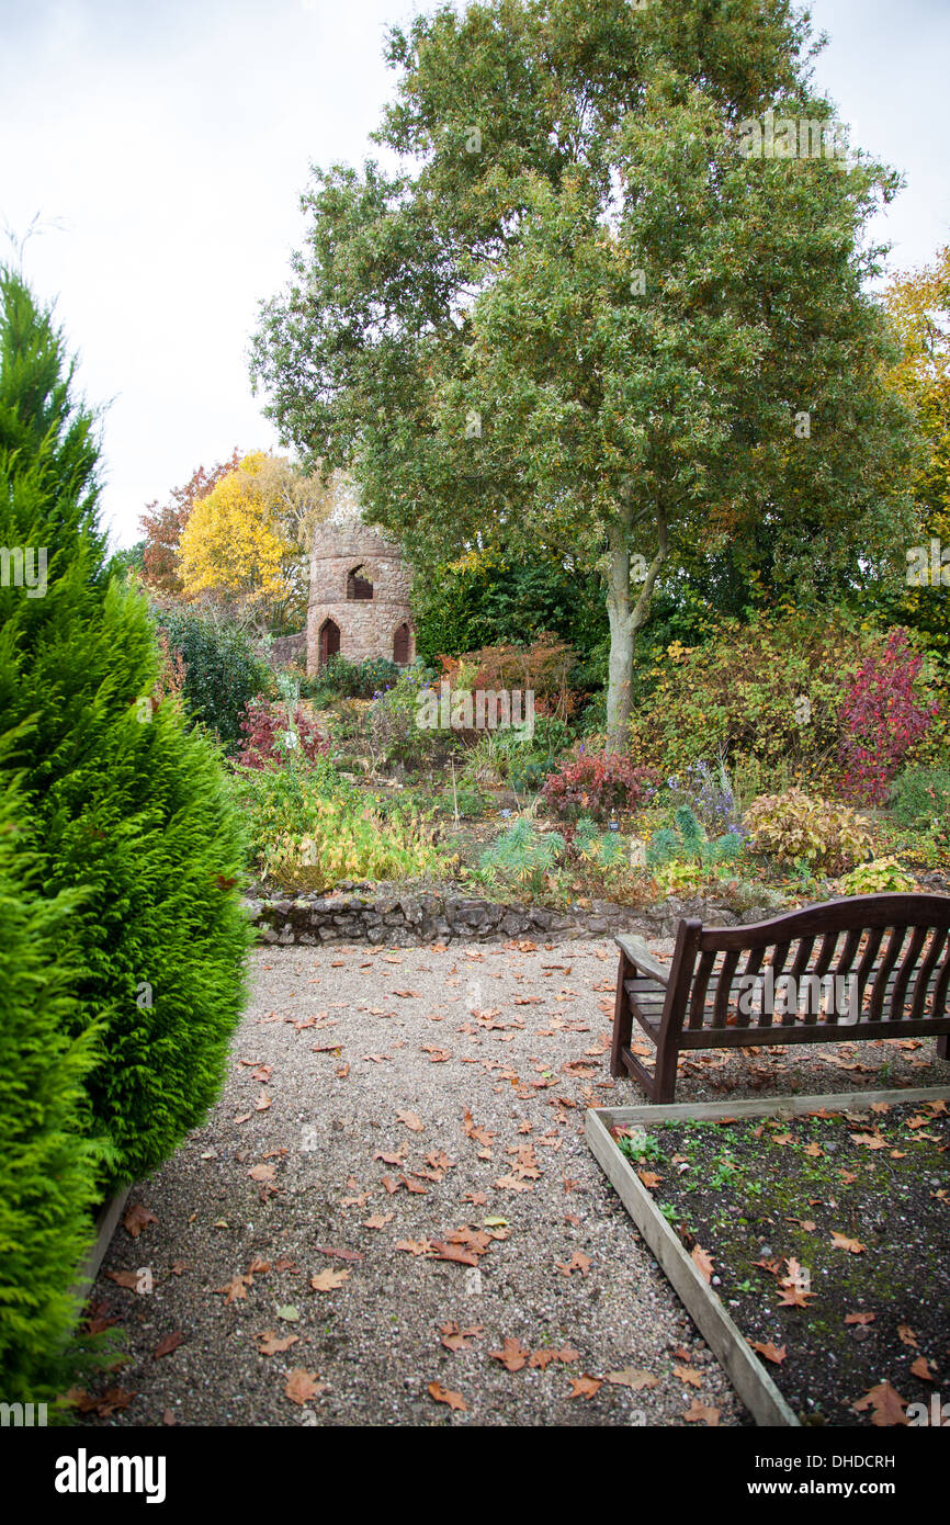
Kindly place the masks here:
<instances>
[{"instance_id":1,"label":"low yellow-green plant clump above left end of stone wall","mask_svg":"<svg viewBox=\"0 0 950 1525\"><path fill-rule=\"evenodd\" d=\"M261 868L287 889L323 891L340 878L441 877L444 857L432 831L400 810L386 819L345 798L313 801L310 830L267 843Z\"/></svg>"}]
</instances>

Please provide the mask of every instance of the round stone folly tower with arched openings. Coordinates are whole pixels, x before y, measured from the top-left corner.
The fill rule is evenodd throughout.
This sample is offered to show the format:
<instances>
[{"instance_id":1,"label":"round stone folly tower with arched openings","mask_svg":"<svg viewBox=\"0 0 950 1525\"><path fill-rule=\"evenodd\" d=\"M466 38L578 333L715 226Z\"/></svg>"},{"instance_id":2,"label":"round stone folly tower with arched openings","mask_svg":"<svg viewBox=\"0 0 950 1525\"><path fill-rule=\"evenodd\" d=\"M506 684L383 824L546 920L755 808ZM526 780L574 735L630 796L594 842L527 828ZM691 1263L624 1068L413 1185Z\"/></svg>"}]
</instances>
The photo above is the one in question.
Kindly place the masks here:
<instances>
[{"instance_id":1,"label":"round stone folly tower with arched openings","mask_svg":"<svg viewBox=\"0 0 950 1525\"><path fill-rule=\"evenodd\" d=\"M308 674L337 653L349 662L412 662L410 589L412 570L392 540L358 517L317 525L310 554Z\"/></svg>"}]
</instances>

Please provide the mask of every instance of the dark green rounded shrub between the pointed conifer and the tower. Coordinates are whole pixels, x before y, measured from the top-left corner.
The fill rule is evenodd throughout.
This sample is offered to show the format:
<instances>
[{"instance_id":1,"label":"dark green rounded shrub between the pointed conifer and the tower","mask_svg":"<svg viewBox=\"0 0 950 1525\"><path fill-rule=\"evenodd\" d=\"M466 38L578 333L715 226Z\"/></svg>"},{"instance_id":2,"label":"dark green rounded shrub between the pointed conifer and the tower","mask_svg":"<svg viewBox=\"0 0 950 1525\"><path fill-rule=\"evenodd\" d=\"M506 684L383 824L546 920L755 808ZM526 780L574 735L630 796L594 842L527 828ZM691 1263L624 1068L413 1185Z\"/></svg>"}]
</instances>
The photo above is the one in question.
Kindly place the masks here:
<instances>
[{"instance_id":1,"label":"dark green rounded shrub between the pointed conifer and the tower","mask_svg":"<svg viewBox=\"0 0 950 1525\"><path fill-rule=\"evenodd\" d=\"M159 615L171 653L185 662L183 698L192 721L215 732L229 752L241 746L241 723L258 694L273 692L273 674L235 625L189 610Z\"/></svg>"}]
</instances>

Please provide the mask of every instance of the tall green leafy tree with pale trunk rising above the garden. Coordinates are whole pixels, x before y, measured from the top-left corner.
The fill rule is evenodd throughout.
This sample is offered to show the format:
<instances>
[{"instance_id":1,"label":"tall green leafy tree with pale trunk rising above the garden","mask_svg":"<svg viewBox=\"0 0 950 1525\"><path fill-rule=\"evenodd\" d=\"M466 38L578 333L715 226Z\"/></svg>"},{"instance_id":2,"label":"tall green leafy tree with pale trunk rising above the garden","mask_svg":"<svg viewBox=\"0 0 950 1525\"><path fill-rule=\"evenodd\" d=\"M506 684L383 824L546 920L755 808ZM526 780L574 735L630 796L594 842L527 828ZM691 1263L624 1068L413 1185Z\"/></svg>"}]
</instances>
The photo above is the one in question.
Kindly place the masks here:
<instances>
[{"instance_id":1,"label":"tall green leafy tree with pale trunk rising above the garden","mask_svg":"<svg viewBox=\"0 0 950 1525\"><path fill-rule=\"evenodd\" d=\"M282 438L352 462L413 557L541 541L599 572L611 746L677 552L764 540L770 576L828 598L913 522L883 503L909 422L863 291L897 177L822 154L808 43L787 0L483 0L393 29L375 136L401 168L314 172L262 308ZM750 152L772 108L820 157L814 131Z\"/></svg>"}]
</instances>

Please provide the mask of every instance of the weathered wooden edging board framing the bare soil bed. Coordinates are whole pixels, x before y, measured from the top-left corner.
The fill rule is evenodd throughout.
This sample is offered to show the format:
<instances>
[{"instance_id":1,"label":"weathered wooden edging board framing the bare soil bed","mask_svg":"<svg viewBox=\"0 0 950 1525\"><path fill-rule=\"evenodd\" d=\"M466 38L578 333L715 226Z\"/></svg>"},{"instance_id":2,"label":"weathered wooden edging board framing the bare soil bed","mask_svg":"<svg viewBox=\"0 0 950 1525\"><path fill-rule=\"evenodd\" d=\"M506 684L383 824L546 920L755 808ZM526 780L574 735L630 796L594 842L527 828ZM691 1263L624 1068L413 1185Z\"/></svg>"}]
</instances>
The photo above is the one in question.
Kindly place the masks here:
<instances>
[{"instance_id":1,"label":"weathered wooden edging board framing the bare soil bed","mask_svg":"<svg viewBox=\"0 0 950 1525\"><path fill-rule=\"evenodd\" d=\"M872 1103L887 1104L950 1101L950 1086L916 1086L906 1090L849 1090L825 1096L772 1096L767 1101L695 1101L669 1106L589 1107L584 1136L604 1174L647 1240L689 1318L723 1366L756 1424L801 1427L775 1382L761 1365L735 1319L714 1287L680 1244L631 1162L621 1154L610 1128L650 1127L656 1122L715 1122L723 1118L798 1116L807 1112L865 1112Z\"/></svg>"}]
</instances>

